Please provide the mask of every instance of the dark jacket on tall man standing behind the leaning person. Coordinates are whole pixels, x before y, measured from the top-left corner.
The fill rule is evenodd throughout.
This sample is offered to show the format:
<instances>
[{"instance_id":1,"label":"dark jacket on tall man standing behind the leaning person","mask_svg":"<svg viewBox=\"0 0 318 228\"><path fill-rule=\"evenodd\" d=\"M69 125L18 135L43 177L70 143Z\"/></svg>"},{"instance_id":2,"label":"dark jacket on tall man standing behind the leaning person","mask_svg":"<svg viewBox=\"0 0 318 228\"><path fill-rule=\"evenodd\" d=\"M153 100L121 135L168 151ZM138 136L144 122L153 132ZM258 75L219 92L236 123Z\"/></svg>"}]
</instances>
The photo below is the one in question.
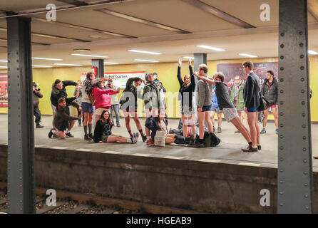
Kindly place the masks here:
<instances>
[{"instance_id":1,"label":"dark jacket on tall man standing behind the leaning person","mask_svg":"<svg viewBox=\"0 0 318 228\"><path fill-rule=\"evenodd\" d=\"M243 95L246 108L260 106L260 78L253 71L247 76Z\"/></svg>"}]
</instances>

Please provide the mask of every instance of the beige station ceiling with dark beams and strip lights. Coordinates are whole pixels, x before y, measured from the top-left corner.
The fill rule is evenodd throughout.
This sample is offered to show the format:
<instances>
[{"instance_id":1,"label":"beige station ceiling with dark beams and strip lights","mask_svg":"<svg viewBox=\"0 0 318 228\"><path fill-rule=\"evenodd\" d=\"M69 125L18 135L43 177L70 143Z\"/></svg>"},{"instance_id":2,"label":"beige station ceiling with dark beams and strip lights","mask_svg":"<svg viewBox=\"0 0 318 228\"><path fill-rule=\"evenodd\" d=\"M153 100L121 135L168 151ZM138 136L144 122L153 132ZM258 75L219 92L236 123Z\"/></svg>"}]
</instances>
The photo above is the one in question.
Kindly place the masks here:
<instances>
[{"instance_id":1,"label":"beige station ceiling with dark beams and strip lights","mask_svg":"<svg viewBox=\"0 0 318 228\"><path fill-rule=\"evenodd\" d=\"M11 0L0 2L0 60L6 60L6 17L31 17L34 65L91 65L82 53L108 56L105 62L140 63L136 58L178 61L193 53L208 60L278 55L278 1L267 0L270 21L262 21L263 0ZM56 21L46 20L46 6L57 8ZM318 0L308 1L309 49L318 52ZM225 51L211 51L198 45ZM91 49L74 52L74 49ZM163 53L150 55L128 50ZM6 63L0 63L6 66Z\"/></svg>"}]
</instances>

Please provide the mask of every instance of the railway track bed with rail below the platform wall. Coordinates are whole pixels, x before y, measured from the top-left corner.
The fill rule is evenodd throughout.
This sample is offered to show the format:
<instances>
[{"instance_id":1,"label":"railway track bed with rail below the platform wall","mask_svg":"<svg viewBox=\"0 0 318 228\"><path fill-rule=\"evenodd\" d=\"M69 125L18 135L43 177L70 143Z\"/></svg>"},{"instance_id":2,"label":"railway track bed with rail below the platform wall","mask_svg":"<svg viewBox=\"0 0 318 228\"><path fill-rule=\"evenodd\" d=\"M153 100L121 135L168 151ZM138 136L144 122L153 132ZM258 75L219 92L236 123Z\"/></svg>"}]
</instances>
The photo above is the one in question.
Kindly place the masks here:
<instances>
[{"instance_id":1,"label":"railway track bed with rail below the platform wall","mask_svg":"<svg viewBox=\"0 0 318 228\"><path fill-rule=\"evenodd\" d=\"M0 183L0 212L8 212L4 183ZM1 188L2 187L2 188ZM46 190L36 188L36 214L198 214L185 209L143 204L93 194L56 191L56 205L46 205Z\"/></svg>"}]
</instances>

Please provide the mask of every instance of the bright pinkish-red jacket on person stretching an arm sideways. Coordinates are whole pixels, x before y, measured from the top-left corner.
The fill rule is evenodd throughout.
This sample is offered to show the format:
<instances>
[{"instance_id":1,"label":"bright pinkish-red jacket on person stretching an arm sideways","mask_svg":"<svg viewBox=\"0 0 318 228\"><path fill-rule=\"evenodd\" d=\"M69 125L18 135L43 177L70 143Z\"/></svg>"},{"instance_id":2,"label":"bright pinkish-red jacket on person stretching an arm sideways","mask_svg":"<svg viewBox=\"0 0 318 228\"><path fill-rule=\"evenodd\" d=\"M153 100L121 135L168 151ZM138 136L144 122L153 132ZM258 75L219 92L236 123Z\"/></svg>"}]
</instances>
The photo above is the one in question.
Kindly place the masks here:
<instances>
[{"instance_id":1,"label":"bright pinkish-red jacket on person stretching an arm sideways","mask_svg":"<svg viewBox=\"0 0 318 228\"><path fill-rule=\"evenodd\" d=\"M95 98L95 108L111 108L111 95L119 93L112 89L101 89L95 86L92 91Z\"/></svg>"}]
</instances>

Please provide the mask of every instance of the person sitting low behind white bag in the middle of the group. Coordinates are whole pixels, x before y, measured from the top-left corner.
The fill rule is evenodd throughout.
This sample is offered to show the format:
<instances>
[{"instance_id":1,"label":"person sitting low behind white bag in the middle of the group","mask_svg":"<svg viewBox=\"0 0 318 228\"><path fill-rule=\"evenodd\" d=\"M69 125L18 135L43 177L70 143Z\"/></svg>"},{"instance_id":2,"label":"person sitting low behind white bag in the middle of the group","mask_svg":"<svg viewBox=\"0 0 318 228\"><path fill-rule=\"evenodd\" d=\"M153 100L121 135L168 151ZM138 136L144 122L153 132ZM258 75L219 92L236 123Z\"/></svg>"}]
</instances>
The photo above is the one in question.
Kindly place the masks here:
<instances>
[{"instance_id":1,"label":"person sitting low behind white bag in the middle of the group","mask_svg":"<svg viewBox=\"0 0 318 228\"><path fill-rule=\"evenodd\" d=\"M165 144L169 145L171 143L179 144L179 145L185 145L190 144L190 137L183 137L182 135L177 134L168 134L168 116L165 114L165 112L161 112L159 116L157 117L150 117L145 122L146 130L151 131L150 134L150 140L151 143L148 143L147 145L154 145L155 142L155 135L160 131L164 131L166 134L165 137Z\"/></svg>"}]
</instances>

